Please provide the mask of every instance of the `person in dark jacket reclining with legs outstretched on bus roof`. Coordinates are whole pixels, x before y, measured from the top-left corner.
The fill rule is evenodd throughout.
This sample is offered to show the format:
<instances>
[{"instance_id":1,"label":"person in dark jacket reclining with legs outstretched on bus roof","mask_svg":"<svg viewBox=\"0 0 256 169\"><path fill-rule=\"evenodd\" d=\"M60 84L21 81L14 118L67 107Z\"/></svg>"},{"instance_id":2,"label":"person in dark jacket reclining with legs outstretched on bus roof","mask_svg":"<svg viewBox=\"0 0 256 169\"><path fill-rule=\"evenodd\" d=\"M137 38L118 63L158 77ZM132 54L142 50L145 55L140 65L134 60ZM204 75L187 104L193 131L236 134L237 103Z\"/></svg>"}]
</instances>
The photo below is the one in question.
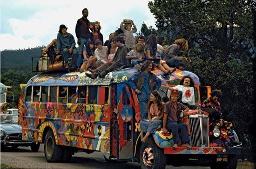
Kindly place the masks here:
<instances>
[{"instance_id":1,"label":"person in dark jacket reclining with legs outstretched on bus roof","mask_svg":"<svg viewBox=\"0 0 256 169\"><path fill-rule=\"evenodd\" d=\"M104 65L101 65L95 70L89 70L92 73L85 73L89 78L104 78L109 72L123 69L130 66L130 62L126 59L126 55L129 52L129 48L123 44L121 37L117 36L114 39L115 46L118 47L115 52L115 57L112 62L108 62Z\"/></svg>"}]
</instances>

